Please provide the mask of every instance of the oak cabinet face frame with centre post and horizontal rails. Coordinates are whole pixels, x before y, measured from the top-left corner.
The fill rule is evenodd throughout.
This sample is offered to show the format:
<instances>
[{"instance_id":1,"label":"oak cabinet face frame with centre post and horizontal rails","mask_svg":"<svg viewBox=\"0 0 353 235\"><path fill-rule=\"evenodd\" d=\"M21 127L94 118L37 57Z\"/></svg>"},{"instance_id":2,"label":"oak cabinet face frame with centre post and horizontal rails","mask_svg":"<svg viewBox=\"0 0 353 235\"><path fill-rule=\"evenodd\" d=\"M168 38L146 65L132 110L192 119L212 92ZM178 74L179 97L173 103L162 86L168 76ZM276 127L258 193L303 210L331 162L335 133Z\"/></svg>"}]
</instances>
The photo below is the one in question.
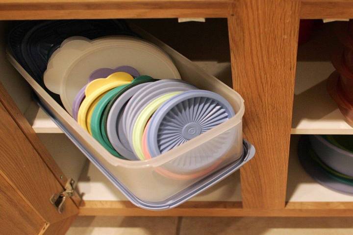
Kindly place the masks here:
<instances>
[{"instance_id":1,"label":"oak cabinet face frame with centre post and horizontal rails","mask_svg":"<svg viewBox=\"0 0 353 235\"><path fill-rule=\"evenodd\" d=\"M187 202L151 212L85 202L82 215L352 216L351 202L285 202L300 19L351 18L350 0L3 0L0 20L227 18L233 87L246 102L243 202Z\"/></svg>"}]
</instances>

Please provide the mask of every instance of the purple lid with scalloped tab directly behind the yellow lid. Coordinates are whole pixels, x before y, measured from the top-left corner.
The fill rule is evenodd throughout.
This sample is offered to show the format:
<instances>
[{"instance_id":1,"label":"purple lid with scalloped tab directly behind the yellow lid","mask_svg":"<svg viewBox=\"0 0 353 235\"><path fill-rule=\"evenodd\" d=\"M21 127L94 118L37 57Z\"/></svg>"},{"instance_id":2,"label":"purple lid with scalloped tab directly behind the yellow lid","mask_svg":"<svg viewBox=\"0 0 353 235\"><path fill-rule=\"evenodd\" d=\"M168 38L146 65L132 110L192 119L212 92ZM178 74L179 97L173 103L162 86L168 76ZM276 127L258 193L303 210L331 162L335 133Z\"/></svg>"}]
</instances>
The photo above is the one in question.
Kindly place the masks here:
<instances>
[{"instance_id":1,"label":"purple lid with scalloped tab directly behind the yellow lid","mask_svg":"<svg viewBox=\"0 0 353 235\"><path fill-rule=\"evenodd\" d=\"M88 82L92 82L93 80L98 78L105 78L114 72L127 72L134 78L140 76L140 73L136 69L132 68L131 66L124 65L124 66L119 66L115 69L101 68L101 69L95 70L89 76ZM81 88L81 90L79 90L73 102L72 115L76 121L77 121L78 109L82 103L82 100L85 98L86 87L87 85L85 85L84 87Z\"/></svg>"}]
</instances>

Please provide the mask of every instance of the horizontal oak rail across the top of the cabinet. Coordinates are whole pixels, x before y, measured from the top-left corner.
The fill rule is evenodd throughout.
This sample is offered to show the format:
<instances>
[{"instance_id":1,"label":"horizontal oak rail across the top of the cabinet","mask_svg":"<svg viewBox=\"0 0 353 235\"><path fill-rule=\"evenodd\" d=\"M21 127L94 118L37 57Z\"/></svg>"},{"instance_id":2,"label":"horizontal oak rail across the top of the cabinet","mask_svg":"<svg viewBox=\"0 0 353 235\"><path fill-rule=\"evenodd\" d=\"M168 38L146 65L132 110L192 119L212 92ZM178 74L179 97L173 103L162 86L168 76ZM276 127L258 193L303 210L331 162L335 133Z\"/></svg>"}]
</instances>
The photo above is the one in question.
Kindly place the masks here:
<instances>
[{"instance_id":1,"label":"horizontal oak rail across the top of the cabinet","mask_svg":"<svg viewBox=\"0 0 353 235\"><path fill-rule=\"evenodd\" d=\"M0 20L227 17L228 6L232 2L241 5L242 1L245 0L2 0ZM351 0L288 1L301 4L302 19L353 16Z\"/></svg>"}]
</instances>

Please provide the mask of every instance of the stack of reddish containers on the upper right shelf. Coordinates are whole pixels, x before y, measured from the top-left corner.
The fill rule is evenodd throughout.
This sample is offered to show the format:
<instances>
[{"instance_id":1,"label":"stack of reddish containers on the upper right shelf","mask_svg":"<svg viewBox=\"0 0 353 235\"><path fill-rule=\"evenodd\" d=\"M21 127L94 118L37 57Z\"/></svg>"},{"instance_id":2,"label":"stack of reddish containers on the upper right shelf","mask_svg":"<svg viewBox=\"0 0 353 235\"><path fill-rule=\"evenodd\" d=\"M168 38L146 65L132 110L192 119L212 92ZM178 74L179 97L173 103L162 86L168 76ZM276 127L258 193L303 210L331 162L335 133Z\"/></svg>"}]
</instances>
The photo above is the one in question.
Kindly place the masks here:
<instances>
[{"instance_id":1,"label":"stack of reddish containers on the upper right shelf","mask_svg":"<svg viewBox=\"0 0 353 235\"><path fill-rule=\"evenodd\" d=\"M339 26L337 35L343 49L332 56L336 71L328 78L328 93L336 101L347 122L353 125L353 21Z\"/></svg>"}]
</instances>

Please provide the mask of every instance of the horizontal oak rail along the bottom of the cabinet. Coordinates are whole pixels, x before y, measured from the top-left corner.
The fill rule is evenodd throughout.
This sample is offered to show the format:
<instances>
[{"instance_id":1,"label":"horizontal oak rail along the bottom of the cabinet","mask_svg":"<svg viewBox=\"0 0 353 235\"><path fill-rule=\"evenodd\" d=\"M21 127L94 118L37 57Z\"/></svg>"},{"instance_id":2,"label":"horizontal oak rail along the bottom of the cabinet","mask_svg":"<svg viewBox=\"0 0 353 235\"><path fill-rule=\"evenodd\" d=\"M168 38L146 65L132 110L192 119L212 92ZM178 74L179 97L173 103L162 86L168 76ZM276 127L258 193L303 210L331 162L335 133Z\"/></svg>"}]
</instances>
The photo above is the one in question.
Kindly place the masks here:
<instances>
[{"instance_id":1,"label":"horizontal oak rail along the bottom of the cabinet","mask_svg":"<svg viewBox=\"0 0 353 235\"><path fill-rule=\"evenodd\" d=\"M85 201L86 216L353 216L353 202L288 202L283 209L244 209L241 202L185 202L167 211L147 211L128 201Z\"/></svg>"}]
</instances>

